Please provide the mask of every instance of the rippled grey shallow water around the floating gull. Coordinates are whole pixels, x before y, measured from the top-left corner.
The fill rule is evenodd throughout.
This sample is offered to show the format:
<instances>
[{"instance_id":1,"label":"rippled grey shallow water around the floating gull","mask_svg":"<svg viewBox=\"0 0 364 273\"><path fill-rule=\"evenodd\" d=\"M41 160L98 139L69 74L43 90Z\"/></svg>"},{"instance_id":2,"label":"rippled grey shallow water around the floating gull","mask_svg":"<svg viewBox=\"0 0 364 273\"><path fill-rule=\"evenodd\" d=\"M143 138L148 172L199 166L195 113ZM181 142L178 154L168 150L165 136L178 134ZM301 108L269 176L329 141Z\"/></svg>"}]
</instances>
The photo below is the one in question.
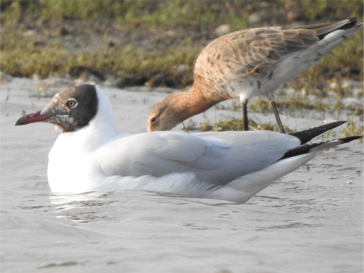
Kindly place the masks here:
<instances>
[{"instance_id":1,"label":"rippled grey shallow water around the floating gull","mask_svg":"<svg viewBox=\"0 0 364 273\"><path fill-rule=\"evenodd\" d=\"M29 96L32 84L0 88L1 272L363 272L361 143L320 152L242 205L136 190L56 195L47 154L59 131L13 126L50 100ZM165 96L103 90L126 133L145 131Z\"/></svg>"}]
</instances>

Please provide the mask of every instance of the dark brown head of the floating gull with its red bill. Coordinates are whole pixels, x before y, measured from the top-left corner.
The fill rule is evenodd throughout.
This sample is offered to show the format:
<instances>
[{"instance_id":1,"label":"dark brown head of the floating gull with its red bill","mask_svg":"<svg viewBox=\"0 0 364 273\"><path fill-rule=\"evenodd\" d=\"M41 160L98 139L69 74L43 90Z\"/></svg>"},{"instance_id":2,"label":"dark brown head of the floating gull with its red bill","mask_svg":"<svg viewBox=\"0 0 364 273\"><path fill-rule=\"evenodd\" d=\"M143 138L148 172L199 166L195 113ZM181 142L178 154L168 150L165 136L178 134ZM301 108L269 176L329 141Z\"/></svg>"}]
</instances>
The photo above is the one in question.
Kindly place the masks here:
<instances>
[{"instance_id":1,"label":"dark brown head of the floating gull with its red bill","mask_svg":"<svg viewBox=\"0 0 364 273\"><path fill-rule=\"evenodd\" d=\"M87 126L97 111L96 86L83 84L60 91L43 110L22 116L14 125L48 122L62 133L73 132Z\"/></svg>"}]
</instances>

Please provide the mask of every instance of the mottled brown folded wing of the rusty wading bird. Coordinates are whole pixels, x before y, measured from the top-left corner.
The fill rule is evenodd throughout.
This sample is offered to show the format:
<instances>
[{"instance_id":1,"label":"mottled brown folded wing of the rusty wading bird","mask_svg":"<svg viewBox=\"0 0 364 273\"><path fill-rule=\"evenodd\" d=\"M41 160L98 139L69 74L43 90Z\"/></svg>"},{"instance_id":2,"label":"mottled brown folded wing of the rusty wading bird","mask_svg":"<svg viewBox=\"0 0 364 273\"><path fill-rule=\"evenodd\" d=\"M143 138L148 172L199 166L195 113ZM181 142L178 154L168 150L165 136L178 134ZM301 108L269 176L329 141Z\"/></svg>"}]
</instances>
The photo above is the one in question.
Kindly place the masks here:
<instances>
[{"instance_id":1,"label":"mottled brown folded wing of the rusty wading bird","mask_svg":"<svg viewBox=\"0 0 364 273\"><path fill-rule=\"evenodd\" d=\"M240 73L245 74L257 66L304 51L328 33L355 23L356 20L347 19L327 24L245 29L215 39L201 55L209 56L210 63L223 62L238 67Z\"/></svg>"}]
</instances>

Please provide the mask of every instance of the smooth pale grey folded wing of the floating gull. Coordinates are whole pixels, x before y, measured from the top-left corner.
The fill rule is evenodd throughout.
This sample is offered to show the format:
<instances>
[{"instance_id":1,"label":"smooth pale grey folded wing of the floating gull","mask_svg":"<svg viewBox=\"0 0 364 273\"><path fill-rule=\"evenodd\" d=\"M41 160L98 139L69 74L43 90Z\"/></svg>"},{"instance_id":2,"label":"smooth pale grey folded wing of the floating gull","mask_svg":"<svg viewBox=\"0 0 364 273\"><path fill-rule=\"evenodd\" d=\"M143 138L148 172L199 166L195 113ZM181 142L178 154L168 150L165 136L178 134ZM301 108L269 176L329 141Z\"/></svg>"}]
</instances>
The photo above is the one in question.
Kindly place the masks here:
<instances>
[{"instance_id":1,"label":"smooth pale grey folded wing of the floating gull","mask_svg":"<svg viewBox=\"0 0 364 273\"><path fill-rule=\"evenodd\" d=\"M299 145L295 137L269 131L199 136L152 132L115 139L95 153L108 176L194 173L203 181L226 184L263 169Z\"/></svg>"}]
</instances>

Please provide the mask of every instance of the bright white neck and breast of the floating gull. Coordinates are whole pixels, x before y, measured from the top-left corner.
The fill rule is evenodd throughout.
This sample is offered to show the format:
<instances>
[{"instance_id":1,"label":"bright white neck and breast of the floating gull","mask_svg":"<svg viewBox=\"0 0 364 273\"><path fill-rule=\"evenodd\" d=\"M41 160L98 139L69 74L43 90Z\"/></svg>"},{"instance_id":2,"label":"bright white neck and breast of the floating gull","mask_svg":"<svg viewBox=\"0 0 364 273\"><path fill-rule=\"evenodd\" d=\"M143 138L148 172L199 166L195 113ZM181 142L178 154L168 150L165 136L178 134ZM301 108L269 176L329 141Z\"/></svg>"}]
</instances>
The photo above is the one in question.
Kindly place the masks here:
<instances>
[{"instance_id":1,"label":"bright white neck and breast of the floating gull","mask_svg":"<svg viewBox=\"0 0 364 273\"><path fill-rule=\"evenodd\" d=\"M80 192L87 191L92 184L90 179L99 171L92 152L118 135L110 102L98 88L96 91L99 102L95 117L84 128L60 134L48 155L52 191L67 192L75 187Z\"/></svg>"}]
</instances>

